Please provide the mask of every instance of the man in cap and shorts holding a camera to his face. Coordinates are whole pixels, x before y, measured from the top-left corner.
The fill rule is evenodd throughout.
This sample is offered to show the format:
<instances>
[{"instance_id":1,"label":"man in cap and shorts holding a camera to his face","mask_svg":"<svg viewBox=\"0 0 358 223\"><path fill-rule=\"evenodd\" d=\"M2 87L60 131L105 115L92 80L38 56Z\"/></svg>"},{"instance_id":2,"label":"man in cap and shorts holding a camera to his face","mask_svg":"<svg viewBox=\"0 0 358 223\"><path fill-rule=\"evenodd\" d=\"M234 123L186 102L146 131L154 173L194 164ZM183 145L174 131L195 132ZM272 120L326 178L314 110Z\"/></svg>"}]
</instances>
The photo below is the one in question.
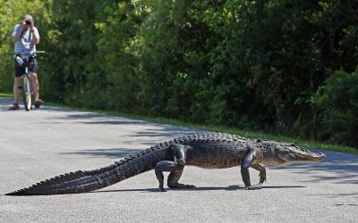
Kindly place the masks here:
<instances>
[{"instance_id":1,"label":"man in cap and shorts holding a camera to his face","mask_svg":"<svg viewBox=\"0 0 358 223\"><path fill-rule=\"evenodd\" d=\"M30 14L25 14L21 17L21 23L16 24L13 28L13 44L14 56L21 54L22 58L29 58L30 54L36 52L36 45L39 43L38 29L35 27L35 22ZM19 86L21 85L21 75L24 68L16 65L15 62L15 77L13 81L13 106L9 110L18 110L19 107ZM34 58L29 63L29 74L32 82L32 89L35 98L35 107L39 108L42 100L39 99L39 84L38 84L38 62Z\"/></svg>"}]
</instances>

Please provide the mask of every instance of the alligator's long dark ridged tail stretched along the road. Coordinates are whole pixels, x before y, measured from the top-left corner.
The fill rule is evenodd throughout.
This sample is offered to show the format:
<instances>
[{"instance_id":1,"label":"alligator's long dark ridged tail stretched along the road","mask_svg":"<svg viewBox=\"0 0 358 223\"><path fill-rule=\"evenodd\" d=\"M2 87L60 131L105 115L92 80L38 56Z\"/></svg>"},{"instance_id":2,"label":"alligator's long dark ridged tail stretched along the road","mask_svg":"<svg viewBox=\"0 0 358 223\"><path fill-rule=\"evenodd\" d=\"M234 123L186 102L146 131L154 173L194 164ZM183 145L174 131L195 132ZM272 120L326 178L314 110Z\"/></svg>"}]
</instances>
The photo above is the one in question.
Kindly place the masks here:
<instances>
[{"instance_id":1,"label":"alligator's long dark ridged tail stretched along the road","mask_svg":"<svg viewBox=\"0 0 358 223\"><path fill-rule=\"evenodd\" d=\"M75 194L98 190L153 169L158 161L167 159L165 147L151 147L105 168L70 172L5 195Z\"/></svg>"}]
</instances>

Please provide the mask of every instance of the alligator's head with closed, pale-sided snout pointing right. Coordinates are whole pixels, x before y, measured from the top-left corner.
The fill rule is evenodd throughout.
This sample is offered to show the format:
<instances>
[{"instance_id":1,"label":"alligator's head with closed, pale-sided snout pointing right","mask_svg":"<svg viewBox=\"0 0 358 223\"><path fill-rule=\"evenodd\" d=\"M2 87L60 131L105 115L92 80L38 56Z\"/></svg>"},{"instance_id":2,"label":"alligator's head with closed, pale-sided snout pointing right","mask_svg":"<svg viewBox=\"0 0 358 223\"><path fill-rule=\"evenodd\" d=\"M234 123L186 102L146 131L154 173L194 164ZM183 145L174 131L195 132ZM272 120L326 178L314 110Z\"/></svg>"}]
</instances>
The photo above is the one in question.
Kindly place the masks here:
<instances>
[{"instance_id":1,"label":"alligator's head with closed, pale-sided snout pointing right","mask_svg":"<svg viewBox=\"0 0 358 223\"><path fill-rule=\"evenodd\" d=\"M326 157L324 153L313 153L294 144L263 143L262 163L268 166L287 165L293 162L321 161Z\"/></svg>"}]
</instances>

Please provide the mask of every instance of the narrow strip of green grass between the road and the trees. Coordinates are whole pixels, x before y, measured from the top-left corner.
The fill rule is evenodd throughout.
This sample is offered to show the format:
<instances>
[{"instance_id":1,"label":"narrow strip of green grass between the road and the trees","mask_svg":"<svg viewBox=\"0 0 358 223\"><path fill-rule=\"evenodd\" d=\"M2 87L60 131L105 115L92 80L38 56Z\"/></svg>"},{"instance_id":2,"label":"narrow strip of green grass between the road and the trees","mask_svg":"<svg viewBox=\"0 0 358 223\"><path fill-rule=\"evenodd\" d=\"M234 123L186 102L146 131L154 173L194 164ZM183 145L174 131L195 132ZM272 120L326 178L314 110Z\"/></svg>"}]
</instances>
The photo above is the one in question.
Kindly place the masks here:
<instances>
[{"instance_id":1,"label":"narrow strip of green grass between the road and the trees","mask_svg":"<svg viewBox=\"0 0 358 223\"><path fill-rule=\"evenodd\" d=\"M0 93L0 97L13 98L13 95ZM45 104L55 106L55 107L60 107L60 108L72 109L72 110L76 110L76 111L93 111L93 112L98 112L101 114L120 116L120 117L125 117L125 118L133 119L133 120L147 120L147 121L152 121L152 122L157 122L157 123L162 123L162 124L167 124L167 125L182 126L185 128L194 128L194 129L200 129L200 130L205 130L205 131L214 131L214 132L225 132L225 133L230 133L230 134L244 136L244 137L261 138L261 139L267 139L267 140L273 140L273 141L279 141L279 142L295 143L296 145L300 145L300 146L308 147L308 148L317 148L320 150L328 150L328 151L334 151L334 152L340 152L340 153L351 153L351 154L358 155L358 149L355 149L355 148L349 147L349 146L345 146L345 145L332 145L332 144L315 142L315 141L310 141L310 140L297 139L297 138L288 137L288 136L275 136L275 135L269 135L269 134L266 134L263 132L246 131L246 130L242 130L239 128L229 128L226 126L219 126L219 125L196 124L196 123L185 122L183 120L173 120L173 119L166 119L166 118L161 118L161 117L149 117L149 116L143 116L143 115L128 114L128 113L123 113L123 112L119 112L119 111L90 110L90 109L77 108L77 107L73 107L70 105L64 105L64 104L59 104L59 103L45 103Z\"/></svg>"}]
</instances>

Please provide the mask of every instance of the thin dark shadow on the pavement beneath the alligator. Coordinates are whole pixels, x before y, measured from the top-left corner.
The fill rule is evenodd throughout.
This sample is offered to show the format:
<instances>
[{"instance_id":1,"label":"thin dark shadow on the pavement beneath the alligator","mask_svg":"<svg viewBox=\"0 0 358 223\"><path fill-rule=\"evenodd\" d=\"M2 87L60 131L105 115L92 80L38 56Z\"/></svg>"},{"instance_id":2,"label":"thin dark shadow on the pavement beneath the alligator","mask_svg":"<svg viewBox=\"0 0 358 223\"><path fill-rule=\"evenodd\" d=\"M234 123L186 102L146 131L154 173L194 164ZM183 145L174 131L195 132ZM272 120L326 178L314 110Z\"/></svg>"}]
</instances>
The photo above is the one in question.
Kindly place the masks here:
<instances>
[{"instance_id":1,"label":"thin dark shadow on the pavement beneath the alligator","mask_svg":"<svg viewBox=\"0 0 358 223\"><path fill-rule=\"evenodd\" d=\"M306 186L260 186L260 189L279 189L279 188L303 188ZM185 189L170 189L167 191L235 191L244 190L243 186L201 186ZM158 188L143 188L143 189L123 189L123 190L103 190L92 191L90 193L113 193L113 192L159 192Z\"/></svg>"}]
</instances>

